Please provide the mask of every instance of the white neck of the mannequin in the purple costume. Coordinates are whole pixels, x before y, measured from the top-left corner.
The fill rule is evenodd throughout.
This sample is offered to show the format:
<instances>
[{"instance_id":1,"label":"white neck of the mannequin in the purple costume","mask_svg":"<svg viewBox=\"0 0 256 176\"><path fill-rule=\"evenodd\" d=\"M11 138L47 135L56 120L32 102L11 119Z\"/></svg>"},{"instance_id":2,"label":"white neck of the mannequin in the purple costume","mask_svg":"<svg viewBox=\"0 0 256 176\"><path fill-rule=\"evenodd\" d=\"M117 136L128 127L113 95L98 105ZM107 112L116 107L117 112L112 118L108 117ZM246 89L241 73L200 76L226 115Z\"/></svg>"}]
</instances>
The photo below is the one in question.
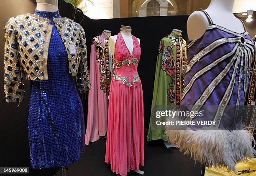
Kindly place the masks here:
<instances>
[{"instance_id":1,"label":"white neck of the mannequin in the purple costume","mask_svg":"<svg viewBox=\"0 0 256 176\"><path fill-rule=\"evenodd\" d=\"M235 0L211 0L210 5L207 7L207 9L218 9L221 11L225 10L226 12L233 13L234 3Z\"/></svg>"}]
</instances>

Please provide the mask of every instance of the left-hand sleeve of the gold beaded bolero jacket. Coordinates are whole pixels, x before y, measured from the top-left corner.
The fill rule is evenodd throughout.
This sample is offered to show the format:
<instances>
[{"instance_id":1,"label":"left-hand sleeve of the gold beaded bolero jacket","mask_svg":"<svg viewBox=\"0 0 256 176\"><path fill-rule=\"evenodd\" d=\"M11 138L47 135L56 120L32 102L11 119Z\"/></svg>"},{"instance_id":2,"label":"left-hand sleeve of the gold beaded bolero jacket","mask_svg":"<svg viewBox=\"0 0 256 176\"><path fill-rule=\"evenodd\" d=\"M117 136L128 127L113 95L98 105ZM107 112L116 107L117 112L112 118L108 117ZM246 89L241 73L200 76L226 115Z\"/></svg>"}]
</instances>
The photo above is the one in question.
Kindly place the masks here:
<instances>
[{"instance_id":1,"label":"left-hand sleeve of the gold beaded bolero jacket","mask_svg":"<svg viewBox=\"0 0 256 176\"><path fill-rule=\"evenodd\" d=\"M20 57L17 51L17 30L12 25L13 18L6 24L4 51L4 91L6 102L22 102L24 99L24 84L21 74Z\"/></svg>"}]
</instances>

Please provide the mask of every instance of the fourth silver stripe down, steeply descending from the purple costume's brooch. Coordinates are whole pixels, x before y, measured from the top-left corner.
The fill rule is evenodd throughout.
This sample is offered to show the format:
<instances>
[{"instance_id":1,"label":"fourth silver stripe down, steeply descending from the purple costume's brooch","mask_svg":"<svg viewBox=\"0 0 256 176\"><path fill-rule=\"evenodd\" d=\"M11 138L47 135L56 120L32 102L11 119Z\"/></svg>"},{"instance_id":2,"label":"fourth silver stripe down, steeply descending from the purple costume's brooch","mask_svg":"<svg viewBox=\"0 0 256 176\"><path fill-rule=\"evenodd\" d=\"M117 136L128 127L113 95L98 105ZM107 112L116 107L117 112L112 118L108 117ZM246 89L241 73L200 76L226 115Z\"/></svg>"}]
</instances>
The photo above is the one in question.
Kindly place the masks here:
<instances>
[{"instance_id":1,"label":"fourth silver stripe down, steeply descending from the purple costume's brooch","mask_svg":"<svg viewBox=\"0 0 256 176\"><path fill-rule=\"evenodd\" d=\"M221 99L221 101L219 103L218 110L217 110L217 112L215 114L215 117L213 119L213 121L216 121L216 123L215 123L215 125L212 125L212 126L215 126L215 127L220 126L221 117L223 116L225 108L228 105L228 102L230 100L230 97L231 97L233 89L234 89L234 85L235 85L235 82L236 82L235 77L236 77L236 74L237 74L238 64L239 64L240 60L241 60L241 55L239 53L238 59L236 60L236 64L235 64L235 67L234 67L234 70L233 70L233 74L232 74L230 83L228 85L228 88L226 89L226 92L225 92L223 98Z\"/></svg>"}]
</instances>

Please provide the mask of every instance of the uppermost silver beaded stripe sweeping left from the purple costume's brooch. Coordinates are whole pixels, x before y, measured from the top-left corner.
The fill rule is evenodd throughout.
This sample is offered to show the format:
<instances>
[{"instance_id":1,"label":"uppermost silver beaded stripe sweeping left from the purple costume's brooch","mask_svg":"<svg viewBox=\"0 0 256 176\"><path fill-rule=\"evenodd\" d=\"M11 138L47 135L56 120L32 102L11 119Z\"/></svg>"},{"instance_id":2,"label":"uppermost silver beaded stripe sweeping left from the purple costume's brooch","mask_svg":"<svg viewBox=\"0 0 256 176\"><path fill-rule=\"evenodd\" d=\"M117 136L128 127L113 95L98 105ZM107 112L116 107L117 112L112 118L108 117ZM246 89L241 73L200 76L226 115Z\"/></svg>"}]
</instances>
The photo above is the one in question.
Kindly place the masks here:
<instances>
[{"instance_id":1,"label":"uppermost silver beaded stripe sweeping left from the purple costume's brooch","mask_svg":"<svg viewBox=\"0 0 256 176\"><path fill-rule=\"evenodd\" d=\"M207 55L209 52L211 52L212 50L214 50L216 47L220 46L220 45L223 45L224 43L227 43L227 42L236 42L238 41L238 38L235 37L235 38L221 38L221 39L218 39L216 40L215 42L212 42L210 45L208 45L207 47L205 47L204 49L202 49L199 53L197 53L197 55L195 55L191 61L189 62L189 64L187 65L187 72L190 71L190 69L192 68L192 66L197 62L199 61L202 57L204 57L205 55Z\"/></svg>"}]
</instances>

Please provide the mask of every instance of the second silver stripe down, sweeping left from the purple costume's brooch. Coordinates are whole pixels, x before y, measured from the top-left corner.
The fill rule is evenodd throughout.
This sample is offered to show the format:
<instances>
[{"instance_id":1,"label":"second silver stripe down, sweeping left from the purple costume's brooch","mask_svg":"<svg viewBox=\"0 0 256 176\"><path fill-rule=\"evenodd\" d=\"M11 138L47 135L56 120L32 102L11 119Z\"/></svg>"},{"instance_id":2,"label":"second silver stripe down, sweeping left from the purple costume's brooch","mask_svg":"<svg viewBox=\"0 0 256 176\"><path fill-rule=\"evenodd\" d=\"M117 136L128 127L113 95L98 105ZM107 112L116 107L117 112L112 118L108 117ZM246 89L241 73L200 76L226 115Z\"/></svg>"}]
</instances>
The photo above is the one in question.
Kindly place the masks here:
<instances>
[{"instance_id":1,"label":"second silver stripe down, sweeping left from the purple costume's brooch","mask_svg":"<svg viewBox=\"0 0 256 176\"><path fill-rule=\"evenodd\" d=\"M211 64L207 65L206 67L204 67L203 69L201 69L200 71L198 71L190 80L190 82L187 84L187 86L183 89L182 92L182 99L185 97L185 95L189 92L189 90L191 89L192 85L194 84L195 80L197 78L199 78L200 76L202 76L202 74L204 74L205 72L207 72L208 70L212 69L213 67L215 67L217 64L219 64L220 62L222 62L223 60L227 59L228 57L232 56L237 48L238 48L238 43L235 45L235 47L233 48L232 51L230 51L228 54L220 57L219 59L216 59L214 62L212 62Z\"/></svg>"}]
</instances>

